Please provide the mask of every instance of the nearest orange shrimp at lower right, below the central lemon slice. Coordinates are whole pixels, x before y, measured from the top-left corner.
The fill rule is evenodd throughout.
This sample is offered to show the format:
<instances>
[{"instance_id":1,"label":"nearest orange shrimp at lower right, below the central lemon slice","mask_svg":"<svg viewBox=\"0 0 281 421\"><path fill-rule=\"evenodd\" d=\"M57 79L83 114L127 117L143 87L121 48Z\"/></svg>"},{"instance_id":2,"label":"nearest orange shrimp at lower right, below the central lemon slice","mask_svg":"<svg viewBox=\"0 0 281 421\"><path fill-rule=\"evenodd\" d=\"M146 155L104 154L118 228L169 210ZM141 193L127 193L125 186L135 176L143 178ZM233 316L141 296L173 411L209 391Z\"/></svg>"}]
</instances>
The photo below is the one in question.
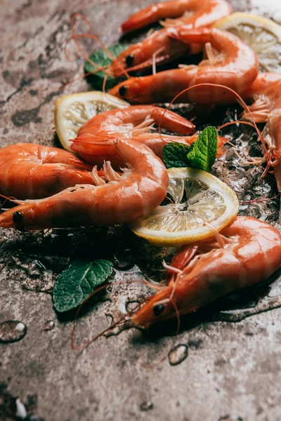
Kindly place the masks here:
<instances>
[{"instance_id":1,"label":"nearest orange shrimp at lower right, below the central lemon slice","mask_svg":"<svg viewBox=\"0 0 281 421\"><path fill-rule=\"evenodd\" d=\"M281 266L281 234L255 218L238 216L216 234L216 240L178 249L168 285L131 317L133 326L195 312L235 290L268 279Z\"/></svg>"}]
</instances>

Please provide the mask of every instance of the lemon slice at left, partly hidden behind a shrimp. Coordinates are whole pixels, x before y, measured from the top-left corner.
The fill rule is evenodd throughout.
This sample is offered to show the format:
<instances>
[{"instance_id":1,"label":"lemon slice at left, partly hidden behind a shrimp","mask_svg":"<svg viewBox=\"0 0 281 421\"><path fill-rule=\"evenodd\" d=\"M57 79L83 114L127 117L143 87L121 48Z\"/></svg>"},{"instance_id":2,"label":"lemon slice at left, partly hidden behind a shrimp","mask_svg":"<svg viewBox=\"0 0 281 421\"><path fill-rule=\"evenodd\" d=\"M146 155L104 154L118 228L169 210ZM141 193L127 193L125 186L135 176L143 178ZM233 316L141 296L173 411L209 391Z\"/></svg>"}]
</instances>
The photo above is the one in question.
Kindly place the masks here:
<instances>
[{"instance_id":1,"label":"lemon slice at left, partly hidden behind a shrimp","mask_svg":"<svg viewBox=\"0 0 281 421\"><path fill-rule=\"evenodd\" d=\"M70 139L76 138L79 128L100 112L125 108L129 104L109 93L99 91L73 93L55 102L55 131L60 143L70 151Z\"/></svg>"}]
</instances>

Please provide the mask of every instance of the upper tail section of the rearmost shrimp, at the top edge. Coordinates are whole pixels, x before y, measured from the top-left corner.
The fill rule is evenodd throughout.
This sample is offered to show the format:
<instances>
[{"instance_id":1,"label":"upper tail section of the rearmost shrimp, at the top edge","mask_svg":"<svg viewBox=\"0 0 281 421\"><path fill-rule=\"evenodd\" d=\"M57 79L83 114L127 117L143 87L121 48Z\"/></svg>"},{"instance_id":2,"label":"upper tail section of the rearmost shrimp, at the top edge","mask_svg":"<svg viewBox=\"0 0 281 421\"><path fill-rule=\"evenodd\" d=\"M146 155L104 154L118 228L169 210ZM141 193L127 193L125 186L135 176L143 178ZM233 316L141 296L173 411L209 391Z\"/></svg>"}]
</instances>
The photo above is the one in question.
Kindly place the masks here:
<instances>
[{"instance_id":1,"label":"upper tail section of the rearmost shrimp, at the top edge","mask_svg":"<svg viewBox=\"0 0 281 421\"><path fill-rule=\"evenodd\" d=\"M164 25L177 23L188 24L190 27L211 26L216 20L228 16L232 8L223 0L171 0L152 4L130 16L122 23L122 32L131 32L158 20L166 19ZM178 19L171 19L178 18Z\"/></svg>"}]
</instances>

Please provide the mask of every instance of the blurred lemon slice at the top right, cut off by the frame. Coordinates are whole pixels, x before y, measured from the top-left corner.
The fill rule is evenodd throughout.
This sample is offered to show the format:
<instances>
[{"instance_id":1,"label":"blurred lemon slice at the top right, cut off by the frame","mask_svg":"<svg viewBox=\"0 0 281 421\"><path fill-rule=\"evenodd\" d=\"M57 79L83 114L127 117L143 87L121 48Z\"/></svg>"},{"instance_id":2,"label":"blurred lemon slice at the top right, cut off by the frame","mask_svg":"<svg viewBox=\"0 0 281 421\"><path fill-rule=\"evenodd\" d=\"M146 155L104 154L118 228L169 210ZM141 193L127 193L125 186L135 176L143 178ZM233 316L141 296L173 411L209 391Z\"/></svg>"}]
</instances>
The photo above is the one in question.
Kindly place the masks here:
<instances>
[{"instance_id":1,"label":"blurred lemon slice at the top right, cut off by the frame","mask_svg":"<svg viewBox=\"0 0 281 421\"><path fill-rule=\"evenodd\" d=\"M260 72L281 72L281 26L273 20L237 12L214 27L239 36L259 58Z\"/></svg>"}]
</instances>

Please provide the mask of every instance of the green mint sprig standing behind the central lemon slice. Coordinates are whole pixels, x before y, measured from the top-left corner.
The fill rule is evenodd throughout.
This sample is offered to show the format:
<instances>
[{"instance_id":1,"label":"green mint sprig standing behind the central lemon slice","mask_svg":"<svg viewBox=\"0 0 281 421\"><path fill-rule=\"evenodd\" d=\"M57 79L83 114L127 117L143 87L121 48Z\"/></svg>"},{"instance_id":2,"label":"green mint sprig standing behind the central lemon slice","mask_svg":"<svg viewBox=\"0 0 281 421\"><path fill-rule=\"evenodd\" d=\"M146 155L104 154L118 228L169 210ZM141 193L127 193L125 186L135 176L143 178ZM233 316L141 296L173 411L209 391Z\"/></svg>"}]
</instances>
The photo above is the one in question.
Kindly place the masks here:
<instances>
[{"instance_id":1,"label":"green mint sprig standing behind the central lemon slice","mask_svg":"<svg viewBox=\"0 0 281 421\"><path fill-rule=\"evenodd\" d=\"M171 142L163 148L163 162L166 168L188 166L211 171L218 150L218 132L213 126L204 128L197 140L190 146Z\"/></svg>"}]
</instances>

